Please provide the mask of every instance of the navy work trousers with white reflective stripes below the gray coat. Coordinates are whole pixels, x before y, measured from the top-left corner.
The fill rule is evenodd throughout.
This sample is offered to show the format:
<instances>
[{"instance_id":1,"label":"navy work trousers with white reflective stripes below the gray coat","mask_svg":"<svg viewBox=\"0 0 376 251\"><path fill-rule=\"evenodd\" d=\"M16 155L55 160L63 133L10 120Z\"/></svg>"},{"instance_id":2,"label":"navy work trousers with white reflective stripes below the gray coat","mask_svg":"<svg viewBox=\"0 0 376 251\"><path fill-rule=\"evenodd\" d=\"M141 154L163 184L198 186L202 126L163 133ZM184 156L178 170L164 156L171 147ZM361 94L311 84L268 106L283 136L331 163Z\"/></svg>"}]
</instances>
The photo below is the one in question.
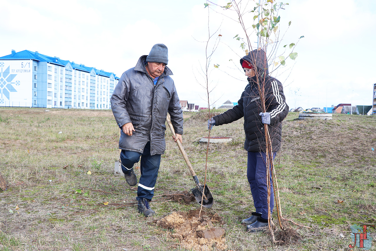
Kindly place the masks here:
<instances>
[{"instance_id":1,"label":"navy work trousers with white reflective stripes below the gray coat","mask_svg":"<svg viewBox=\"0 0 376 251\"><path fill-rule=\"evenodd\" d=\"M138 181L137 200L146 198L151 200L154 195L154 187L158 176L159 165L161 164L161 155L150 155L150 141L144 147L144 152L125 151L121 150L120 160L121 169L124 173L132 170L133 165L139 161L141 176Z\"/></svg>"}]
</instances>

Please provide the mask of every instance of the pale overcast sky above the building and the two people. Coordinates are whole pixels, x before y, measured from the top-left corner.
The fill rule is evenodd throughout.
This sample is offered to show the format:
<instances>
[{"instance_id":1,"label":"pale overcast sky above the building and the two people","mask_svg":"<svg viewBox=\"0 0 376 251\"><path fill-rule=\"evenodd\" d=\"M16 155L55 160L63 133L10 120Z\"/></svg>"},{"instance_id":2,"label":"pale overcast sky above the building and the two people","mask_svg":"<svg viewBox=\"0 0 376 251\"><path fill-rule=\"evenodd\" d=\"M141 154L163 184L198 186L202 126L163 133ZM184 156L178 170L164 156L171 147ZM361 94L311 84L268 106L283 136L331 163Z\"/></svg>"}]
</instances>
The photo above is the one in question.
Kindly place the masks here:
<instances>
[{"instance_id":1,"label":"pale overcast sky above the building and the two people","mask_svg":"<svg viewBox=\"0 0 376 251\"><path fill-rule=\"evenodd\" d=\"M213 1L226 5L226 1ZM243 4L245 4L243 0ZM249 6L253 4L253 1ZM374 0L290 0L279 12L284 35L279 41L297 43L295 61L272 76L284 86L290 108L325 107L338 103L371 105L376 83L374 60L376 41ZM63 60L85 64L118 77L135 66L156 43L168 47L168 67L180 100L200 107L208 106L205 67L205 41L208 40L208 8L205 0L102 1L3 0L0 8L0 56L11 50L38 51ZM243 5L244 6L244 5ZM209 12L209 28L220 43L210 64L210 103L220 106L226 100L237 102L246 76L240 71L244 56L241 27L225 15L231 12L214 8ZM245 15L253 24L253 14ZM288 28L288 22L291 26ZM286 31L286 33L285 33ZM221 34L218 37L217 34ZM299 40L299 37L304 38ZM253 47L257 39L254 37ZM279 50L280 53L283 50ZM286 52L288 53L288 52ZM288 56L285 55L286 57ZM219 68L214 68L219 64Z\"/></svg>"}]
</instances>

